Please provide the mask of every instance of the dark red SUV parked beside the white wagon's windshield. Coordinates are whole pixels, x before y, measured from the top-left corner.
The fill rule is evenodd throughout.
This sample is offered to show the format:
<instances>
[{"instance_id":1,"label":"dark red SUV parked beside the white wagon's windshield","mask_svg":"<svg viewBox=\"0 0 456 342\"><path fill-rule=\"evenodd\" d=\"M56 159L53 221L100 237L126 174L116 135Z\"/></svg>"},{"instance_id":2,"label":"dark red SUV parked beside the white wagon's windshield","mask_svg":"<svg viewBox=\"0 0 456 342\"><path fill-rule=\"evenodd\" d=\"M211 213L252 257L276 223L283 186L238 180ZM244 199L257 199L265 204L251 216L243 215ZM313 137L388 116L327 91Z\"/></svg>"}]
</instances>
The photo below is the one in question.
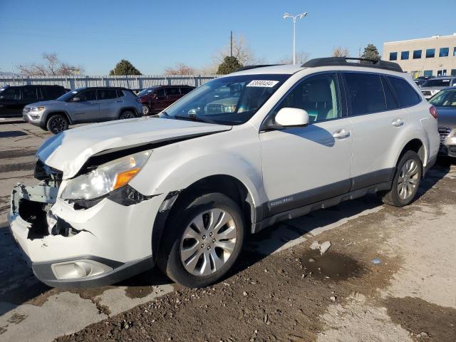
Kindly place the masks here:
<instances>
[{"instance_id":1,"label":"dark red SUV parked beside the white wagon's windshield","mask_svg":"<svg viewBox=\"0 0 456 342\"><path fill-rule=\"evenodd\" d=\"M149 115L161 112L193 89L195 87L192 86L155 86L145 88L138 93L138 98L140 98L142 103L142 113Z\"/></svg>"}]
</instances>

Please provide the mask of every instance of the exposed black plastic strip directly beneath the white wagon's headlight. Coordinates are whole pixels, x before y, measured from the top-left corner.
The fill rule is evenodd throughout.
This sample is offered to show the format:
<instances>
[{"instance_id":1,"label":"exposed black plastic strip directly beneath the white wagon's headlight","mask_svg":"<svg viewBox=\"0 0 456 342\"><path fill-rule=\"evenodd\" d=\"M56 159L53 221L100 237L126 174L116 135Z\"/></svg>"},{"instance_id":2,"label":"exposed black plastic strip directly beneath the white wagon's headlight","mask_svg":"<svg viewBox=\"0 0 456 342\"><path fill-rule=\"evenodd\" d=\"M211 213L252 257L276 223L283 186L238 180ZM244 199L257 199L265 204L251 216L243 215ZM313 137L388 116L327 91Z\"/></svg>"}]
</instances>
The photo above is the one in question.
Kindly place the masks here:
<instances>
[{"instance_id":1,"label":"exposed black plastic strip directly beneath the white wagon's headlight","mask_svg":"<svg viewBox=\"0 0 456 342\"><path fill-rule=\"evenodd\" d=\"M135 190L135 188L131 187L130 185L125 185L123 187L120 187L118 190L114 190L113 192L109 192L106 195L96 197L93 199L66 199L66 202L69 204L73 204L73 208L76 210L81 210L81 209L88 209L96 204L100 203L103 199L107 198L110 199L111 201L123 205L125 207L128 207L133 204L138 204L142 201L146 201L147 199L151 199L152 197L162 195L162 194L157 194L157 195L142 195L138 190Z\"/></svg>"}]
</instances>

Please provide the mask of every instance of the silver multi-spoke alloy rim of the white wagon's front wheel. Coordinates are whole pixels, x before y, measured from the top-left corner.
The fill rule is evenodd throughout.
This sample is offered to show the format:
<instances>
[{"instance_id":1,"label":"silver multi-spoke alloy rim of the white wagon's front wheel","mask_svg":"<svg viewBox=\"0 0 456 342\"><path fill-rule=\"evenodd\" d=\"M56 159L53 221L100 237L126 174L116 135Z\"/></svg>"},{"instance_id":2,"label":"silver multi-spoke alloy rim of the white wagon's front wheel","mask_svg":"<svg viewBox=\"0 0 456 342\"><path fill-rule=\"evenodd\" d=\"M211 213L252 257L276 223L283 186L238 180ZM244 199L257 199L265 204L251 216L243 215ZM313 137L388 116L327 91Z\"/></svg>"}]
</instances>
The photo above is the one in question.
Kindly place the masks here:
<instances>
[{"instance_id":1,"label":"silver multi-spoke alloy rim of the white wagon's front wheel","mask_svg":"<svg viewBox=\"0 0 456 342\"><path fill-rule=\"evenodd\" d=\"M236 243L237 225L228 212L219 208L200 212L182 236L180 260L190 274L208 276L227 263Z\"/></svg>"}]
</instances>

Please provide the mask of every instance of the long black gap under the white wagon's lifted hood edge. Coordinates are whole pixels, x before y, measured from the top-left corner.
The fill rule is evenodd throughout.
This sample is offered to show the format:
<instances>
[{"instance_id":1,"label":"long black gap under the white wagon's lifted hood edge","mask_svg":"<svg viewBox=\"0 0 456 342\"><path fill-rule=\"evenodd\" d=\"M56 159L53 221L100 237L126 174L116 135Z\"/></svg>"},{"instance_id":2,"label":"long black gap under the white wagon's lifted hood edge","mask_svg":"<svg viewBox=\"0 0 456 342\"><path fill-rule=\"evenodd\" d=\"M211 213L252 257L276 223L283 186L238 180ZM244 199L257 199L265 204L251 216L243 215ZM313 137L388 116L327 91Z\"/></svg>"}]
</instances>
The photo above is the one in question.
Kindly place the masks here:
<instances>
[{"instance_id":1,"label":"long black gap under the white wagon's lifted hood edge","mask_svg":"<svg viewBox=\"0 0 456 342\"><path fill-rule=\"evenodd\" d=\"M206 135L212 135L212 134L216 134L216 133L222 133L222 132L225 132L225 131L222 130L219 132L196 133L196 134L185 135L183 137L168 138L167 140L162 140L159 142L144 142L144 143L140 143L140 144L136 144L136 145L117 147L117 148L113 148L110 150L103 150L101 152L95 153L95 155L90 156L74 177L78 177L79 175L84 175L84 174L94 170L96 167L103 165L105 162L110 162L112 160L116 160L118 158L125 157L127 155L133 155L136 152L142 152L145 150L154 150L155 148L166 146L166 145L171 145L176 142L181 142L181 141L185 141L185 140L190 140L190 139L199 138L199 137L203 137ZM74 178L74 177L71 177L71 178Z\"/></svg>"}]
</instances>

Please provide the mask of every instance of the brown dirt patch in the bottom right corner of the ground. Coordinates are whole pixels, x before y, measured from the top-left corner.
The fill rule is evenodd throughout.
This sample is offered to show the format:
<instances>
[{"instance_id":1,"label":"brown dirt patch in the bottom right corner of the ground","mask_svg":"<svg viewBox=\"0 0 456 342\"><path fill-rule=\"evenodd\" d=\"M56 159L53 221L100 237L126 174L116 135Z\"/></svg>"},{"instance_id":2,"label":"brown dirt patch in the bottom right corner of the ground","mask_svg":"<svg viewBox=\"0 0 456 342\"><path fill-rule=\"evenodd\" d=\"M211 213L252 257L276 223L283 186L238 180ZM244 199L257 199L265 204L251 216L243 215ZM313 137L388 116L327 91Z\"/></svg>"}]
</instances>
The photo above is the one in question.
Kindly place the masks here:
<instances>
[{"instance_id":1,"label":"brown dirt patch in the bottom right corner of the ground","mask_svg":"<svg viewBox=\"0 0 456 342\"><path fill-rule=\"evenodd\" d=\"M411 331L419 341L456 341L455 309L430 304L418 297L389 297L384 303L391 320Z\"/></svg>"}]
</instances>

